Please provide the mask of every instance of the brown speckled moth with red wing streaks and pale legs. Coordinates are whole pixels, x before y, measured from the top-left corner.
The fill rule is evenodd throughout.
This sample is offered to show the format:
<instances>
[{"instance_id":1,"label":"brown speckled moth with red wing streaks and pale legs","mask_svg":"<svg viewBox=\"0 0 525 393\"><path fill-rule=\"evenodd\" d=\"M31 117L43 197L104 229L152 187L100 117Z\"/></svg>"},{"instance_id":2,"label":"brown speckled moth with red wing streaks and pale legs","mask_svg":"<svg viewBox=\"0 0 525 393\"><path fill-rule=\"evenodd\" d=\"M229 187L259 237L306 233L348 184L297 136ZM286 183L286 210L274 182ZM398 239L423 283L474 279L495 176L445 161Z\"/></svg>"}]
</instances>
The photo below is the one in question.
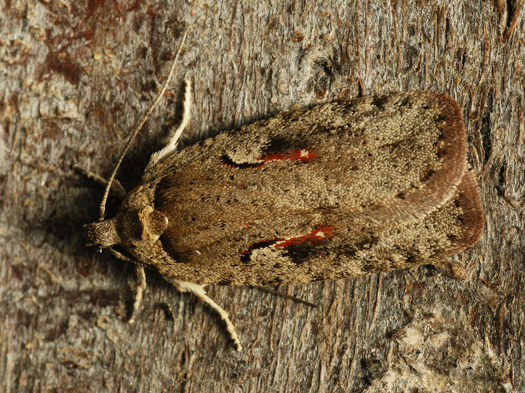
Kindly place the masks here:
<instances>
[{"instance_id":1,"label":"brown speckled moth with red wing streaks and pale legs","mask_svg":"<svg viewBox=\"0 0 525 393\"><path fill-rule=\"evenodd\" d=\"M144 267L228 314L204 285L342 279L422 264L478 242L484 213L458 103L446 93L367 95L220 133L152 155L91 245ZM115 248L115 247L118 247Z\"/></svg>"}]
</instances>

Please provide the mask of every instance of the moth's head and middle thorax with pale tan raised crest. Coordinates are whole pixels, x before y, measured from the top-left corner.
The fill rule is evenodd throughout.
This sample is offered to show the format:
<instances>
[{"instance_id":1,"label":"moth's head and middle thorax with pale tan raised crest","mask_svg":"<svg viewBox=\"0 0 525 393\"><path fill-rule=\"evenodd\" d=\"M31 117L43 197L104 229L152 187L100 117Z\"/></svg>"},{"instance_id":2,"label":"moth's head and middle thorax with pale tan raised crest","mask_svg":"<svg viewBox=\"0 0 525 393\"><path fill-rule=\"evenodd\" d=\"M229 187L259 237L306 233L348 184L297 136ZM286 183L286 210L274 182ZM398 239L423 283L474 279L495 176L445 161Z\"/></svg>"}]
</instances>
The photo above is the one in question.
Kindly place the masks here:
<instances>
[{"instance_id":1,"label":"moth's head and middle thorax with pale tan raised crest","mask_svg":"<svg viewBox=\"0 0 525 393\"><path fill-rule=\"evenodd\" d=\"M109 220L85 225L88 246L107 248L114 244L155 243L168 224L164 213L146 205L117 214Z\"/></svg>"}]
</instances>

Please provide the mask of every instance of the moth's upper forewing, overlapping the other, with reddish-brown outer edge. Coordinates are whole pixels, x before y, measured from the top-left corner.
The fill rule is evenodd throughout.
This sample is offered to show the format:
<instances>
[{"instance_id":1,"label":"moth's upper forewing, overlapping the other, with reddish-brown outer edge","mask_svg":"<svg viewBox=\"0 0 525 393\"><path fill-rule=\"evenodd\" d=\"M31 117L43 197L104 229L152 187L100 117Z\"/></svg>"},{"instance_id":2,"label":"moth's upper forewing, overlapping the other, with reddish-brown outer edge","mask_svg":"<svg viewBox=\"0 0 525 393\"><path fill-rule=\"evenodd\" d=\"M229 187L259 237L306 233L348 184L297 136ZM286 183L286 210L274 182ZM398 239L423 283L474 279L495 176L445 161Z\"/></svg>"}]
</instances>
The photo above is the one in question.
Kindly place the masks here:
<instances>
[{"instance_id":1,"label":"moth's upper forewing, overlapping the other, with reddish-brown outer edge","mask_svg":"<svg viewBox=\"0 0 525 393\"><path fill-rule=\"evenodd\" d=\"M409 92L281 113L219 134L166 158L142 183L158 183L162 202L171 202L170 188L195 198L200 185L212 198L244 192L250 205L260 196L268 210L323 206L402 221L447 201L466 168L457 102Z\"/></svg>"}]
</instances>

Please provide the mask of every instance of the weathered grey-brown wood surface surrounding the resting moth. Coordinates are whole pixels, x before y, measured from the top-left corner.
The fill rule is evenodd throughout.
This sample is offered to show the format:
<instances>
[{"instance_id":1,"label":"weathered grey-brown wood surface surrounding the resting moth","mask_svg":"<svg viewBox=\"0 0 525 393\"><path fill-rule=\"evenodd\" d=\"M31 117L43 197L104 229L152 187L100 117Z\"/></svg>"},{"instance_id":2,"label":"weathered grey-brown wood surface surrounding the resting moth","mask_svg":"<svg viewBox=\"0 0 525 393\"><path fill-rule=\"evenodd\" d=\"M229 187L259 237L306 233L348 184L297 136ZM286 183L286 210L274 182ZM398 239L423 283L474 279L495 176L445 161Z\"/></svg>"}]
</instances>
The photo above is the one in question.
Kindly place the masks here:
<instances>
[{"instance_id":1,"label":"weathered grey-brown wood surface surrounding the resting moth","mask_svg":"<svg viewBox=\"0 0 525 393\"><path fill-rule=\"evenodd\" d=\"M146 271L126 323L133 267L85 246L102 191L71 165L109 175L187 22L170 91L119 170L125 188L180 121L186 75L186 144L335 99L446 91L487 220L454 257L467 279L422 266L279 288L318 309L209 286L237 353L213 311ZM525 391L524 23L519 0L3 2L0 391Z\"/></svg>"}]
</instances>

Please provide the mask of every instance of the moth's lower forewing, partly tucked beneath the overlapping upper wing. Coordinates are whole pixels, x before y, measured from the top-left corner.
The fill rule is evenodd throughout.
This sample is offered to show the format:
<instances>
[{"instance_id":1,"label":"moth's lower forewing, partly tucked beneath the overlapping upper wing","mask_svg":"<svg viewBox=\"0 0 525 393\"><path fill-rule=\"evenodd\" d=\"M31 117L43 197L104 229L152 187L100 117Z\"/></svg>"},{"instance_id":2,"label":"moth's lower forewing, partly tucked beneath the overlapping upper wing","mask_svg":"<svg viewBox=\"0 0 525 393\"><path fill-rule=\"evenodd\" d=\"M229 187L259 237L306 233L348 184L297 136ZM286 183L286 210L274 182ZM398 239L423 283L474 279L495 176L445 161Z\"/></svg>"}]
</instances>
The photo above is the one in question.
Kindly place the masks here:
<instances>
[{"instance_id":1,"label":"moth's lower forewing, partly tucked beneath the overlapping upper wing","mask_svg":"<svg viewBox=\"0 0 525 393\"><path fill-rule=\"evenodd\" d=\"M185 252L163 243L177 268L162 274L224 285L348 278L440 263L474 245L483 226L479 190L469 171L453 198L423 220L385 225L327 212L257 220Z\"/></svg>"}]
</instances>

